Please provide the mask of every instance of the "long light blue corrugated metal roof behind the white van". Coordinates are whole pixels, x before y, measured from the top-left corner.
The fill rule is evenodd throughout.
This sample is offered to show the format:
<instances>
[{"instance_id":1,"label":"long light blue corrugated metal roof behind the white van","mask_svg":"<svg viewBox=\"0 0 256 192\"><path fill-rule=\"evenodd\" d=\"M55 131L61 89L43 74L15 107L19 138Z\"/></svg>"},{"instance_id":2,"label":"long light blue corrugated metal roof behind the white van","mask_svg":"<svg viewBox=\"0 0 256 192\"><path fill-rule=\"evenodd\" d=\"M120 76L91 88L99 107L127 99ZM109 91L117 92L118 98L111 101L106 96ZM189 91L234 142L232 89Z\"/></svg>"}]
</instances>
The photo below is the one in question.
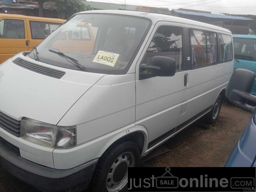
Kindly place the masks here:
<instances>
[{"instance_id":1,"label":"long light blue corrugated metal roof behind the white van","mask_svg":"<svg viewBox=\"0 0 256 192\"><path fill-rule=\"evenodd\" d=\"M175 12L181 13L181 14L204 16L204 17L208 17L208 18L236 19L236 20L254 20L254 19L245 18L245 17L239 17L239 16L229 16L229 15L219 15L219 14L210 14L210 13L200 13L200 12L192 12L192 11L181 11L181 10L175 10L175 9L173 9L172 11L175 11Z\"/></svg>"}]
</instances>

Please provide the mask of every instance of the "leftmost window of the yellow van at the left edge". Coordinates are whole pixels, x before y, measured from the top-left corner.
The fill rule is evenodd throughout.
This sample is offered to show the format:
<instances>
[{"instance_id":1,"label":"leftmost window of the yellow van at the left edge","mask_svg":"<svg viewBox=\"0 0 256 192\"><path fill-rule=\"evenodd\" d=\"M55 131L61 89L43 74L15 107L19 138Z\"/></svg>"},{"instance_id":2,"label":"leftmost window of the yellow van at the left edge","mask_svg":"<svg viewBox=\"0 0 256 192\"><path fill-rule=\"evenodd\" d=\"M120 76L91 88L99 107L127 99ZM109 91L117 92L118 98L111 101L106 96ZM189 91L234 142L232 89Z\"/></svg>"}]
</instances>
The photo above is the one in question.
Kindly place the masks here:
<instances>
[{"instance_id":1,"label":"leftmost window of the yellow van at the left edge","mask_svg":"<svg viewBox=\"0 0 256 192\"><path fill-rule=\"evenodd\" d=\"M23 20L3 19L0 21L1 39L25 39L25 27Z\"/></svg>"}]
</instances>

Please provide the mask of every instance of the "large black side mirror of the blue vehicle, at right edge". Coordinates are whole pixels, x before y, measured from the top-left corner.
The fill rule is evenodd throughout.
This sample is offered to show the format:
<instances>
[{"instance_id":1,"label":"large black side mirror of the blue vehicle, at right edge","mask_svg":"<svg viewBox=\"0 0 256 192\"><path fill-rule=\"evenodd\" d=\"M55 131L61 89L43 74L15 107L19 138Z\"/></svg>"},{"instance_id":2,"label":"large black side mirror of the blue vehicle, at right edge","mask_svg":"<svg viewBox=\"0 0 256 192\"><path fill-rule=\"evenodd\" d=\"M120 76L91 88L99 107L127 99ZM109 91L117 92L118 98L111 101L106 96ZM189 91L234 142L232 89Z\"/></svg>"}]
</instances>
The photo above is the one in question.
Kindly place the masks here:
<instances>
[{"instance_id":1,"label":"large black side mirror of the blue vehicle, at right edge","mask_svg":"<svg viewBox=\"0 0 256 192\"><path fill-rule=\"evenodd\" d=\"M251 113L256 110L256 96L251 94L254 78L254 72L237 69L233 72L226 90L226 97L231 103Z\"/></svg>"}]
</instances>

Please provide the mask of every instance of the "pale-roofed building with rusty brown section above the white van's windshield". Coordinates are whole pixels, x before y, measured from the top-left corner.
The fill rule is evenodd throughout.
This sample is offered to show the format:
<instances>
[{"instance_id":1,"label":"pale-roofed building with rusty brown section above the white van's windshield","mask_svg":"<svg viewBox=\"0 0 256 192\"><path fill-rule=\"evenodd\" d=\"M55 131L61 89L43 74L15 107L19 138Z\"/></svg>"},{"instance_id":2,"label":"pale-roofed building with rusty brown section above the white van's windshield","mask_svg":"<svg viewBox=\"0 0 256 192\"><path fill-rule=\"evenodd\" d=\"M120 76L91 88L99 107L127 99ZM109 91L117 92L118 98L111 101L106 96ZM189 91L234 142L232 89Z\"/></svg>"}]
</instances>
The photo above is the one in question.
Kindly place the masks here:
<instances>
[{"instance_id":1,"label":"pale-roofed building with rusty brown section above the white van's windshield","mask_svg":"<svg viewBox=\"0 0 256 192\"><path fill-rule=\"evenodd\" d=\"M95 10L101 9L110 9L110 10L131 10L131 11L143 11L143 12L153 12L161 14L170 14L168 8L159 8L159 7L145 7L145 6L134 6L134 5L125 5L125 4L113 4L113 3L104 3L104 2L92 2L81 0L85 5L90 5Z\"/></svg>"}]
</instances>

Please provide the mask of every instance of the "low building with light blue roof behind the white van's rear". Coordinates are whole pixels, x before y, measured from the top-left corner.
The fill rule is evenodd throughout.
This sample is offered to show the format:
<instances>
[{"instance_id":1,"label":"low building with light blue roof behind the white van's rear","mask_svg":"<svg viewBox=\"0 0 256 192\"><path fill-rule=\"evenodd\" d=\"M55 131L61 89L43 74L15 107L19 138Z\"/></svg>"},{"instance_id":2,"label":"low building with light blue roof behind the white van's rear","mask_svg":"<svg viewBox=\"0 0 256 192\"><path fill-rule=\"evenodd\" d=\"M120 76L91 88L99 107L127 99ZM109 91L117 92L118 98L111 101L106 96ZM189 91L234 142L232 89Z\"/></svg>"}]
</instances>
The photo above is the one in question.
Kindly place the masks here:
<instances>
[{"instance_id":1,"label":"low building with light blue roof behind the white van's rear","mask_svg":"<svg viewBox=\"0 0 256 192\"><path fill-rule=\"evenodd\" d=\"M221 26L223 28L229 29L233 34L252 34L253 31L250 26L251 23L255 22L254 19L249 17L229 14L212 14L211 12L207 11L197 11L191 9L173 9L171 10L171 14L181 18L187 18Z\"/></svg>"}]
</instances>

